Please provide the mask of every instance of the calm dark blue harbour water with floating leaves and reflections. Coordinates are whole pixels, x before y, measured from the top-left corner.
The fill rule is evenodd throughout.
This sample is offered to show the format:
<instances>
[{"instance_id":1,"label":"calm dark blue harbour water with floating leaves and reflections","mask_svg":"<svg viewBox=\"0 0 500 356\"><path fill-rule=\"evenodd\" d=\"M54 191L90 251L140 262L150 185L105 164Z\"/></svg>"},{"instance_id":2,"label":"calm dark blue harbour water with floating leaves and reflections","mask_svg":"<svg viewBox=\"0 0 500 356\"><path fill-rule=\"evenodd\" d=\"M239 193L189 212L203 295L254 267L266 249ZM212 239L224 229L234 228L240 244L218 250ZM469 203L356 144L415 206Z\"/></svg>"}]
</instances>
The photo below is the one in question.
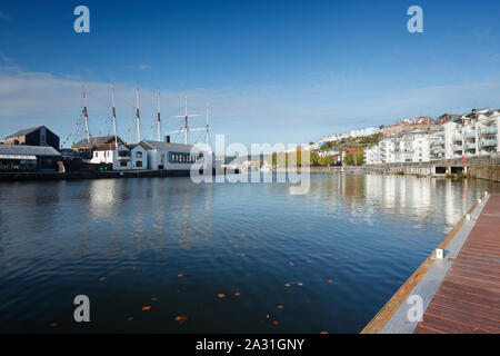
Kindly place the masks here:
<instances>
[{"instance_id":1,"label":"calm dark blue harbour water with floating leaves and reflections","mask_svg":"<svg viewBox=\"0 0 500 356\"><path fill-rule=\"evenodd\" d=\"M0 184L0 332L358 333L484 190L500 185Z\"/></svg>"}]
</instances>

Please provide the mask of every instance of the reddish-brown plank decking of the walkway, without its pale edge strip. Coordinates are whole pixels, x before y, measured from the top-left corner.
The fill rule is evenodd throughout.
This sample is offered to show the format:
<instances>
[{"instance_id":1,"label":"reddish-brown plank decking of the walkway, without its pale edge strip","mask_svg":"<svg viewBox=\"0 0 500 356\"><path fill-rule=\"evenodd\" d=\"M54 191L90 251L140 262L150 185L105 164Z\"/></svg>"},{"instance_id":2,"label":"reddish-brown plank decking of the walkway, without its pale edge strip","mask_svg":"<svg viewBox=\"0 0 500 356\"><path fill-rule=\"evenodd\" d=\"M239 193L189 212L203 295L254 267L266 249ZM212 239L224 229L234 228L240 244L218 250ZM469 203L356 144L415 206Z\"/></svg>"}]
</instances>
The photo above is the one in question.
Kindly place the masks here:
<instances>
[{"instance_id":1,"label":"reddish-brown plank decking of the walkway, without its pale edge strip","mask_svg":"<svg viewBox=\"0 0 500 356\"><path fill-rule=\"evenodd\" d=\"M414 333L500 333L500 195L489 198Z\"/></svg>"}]
</instances>

